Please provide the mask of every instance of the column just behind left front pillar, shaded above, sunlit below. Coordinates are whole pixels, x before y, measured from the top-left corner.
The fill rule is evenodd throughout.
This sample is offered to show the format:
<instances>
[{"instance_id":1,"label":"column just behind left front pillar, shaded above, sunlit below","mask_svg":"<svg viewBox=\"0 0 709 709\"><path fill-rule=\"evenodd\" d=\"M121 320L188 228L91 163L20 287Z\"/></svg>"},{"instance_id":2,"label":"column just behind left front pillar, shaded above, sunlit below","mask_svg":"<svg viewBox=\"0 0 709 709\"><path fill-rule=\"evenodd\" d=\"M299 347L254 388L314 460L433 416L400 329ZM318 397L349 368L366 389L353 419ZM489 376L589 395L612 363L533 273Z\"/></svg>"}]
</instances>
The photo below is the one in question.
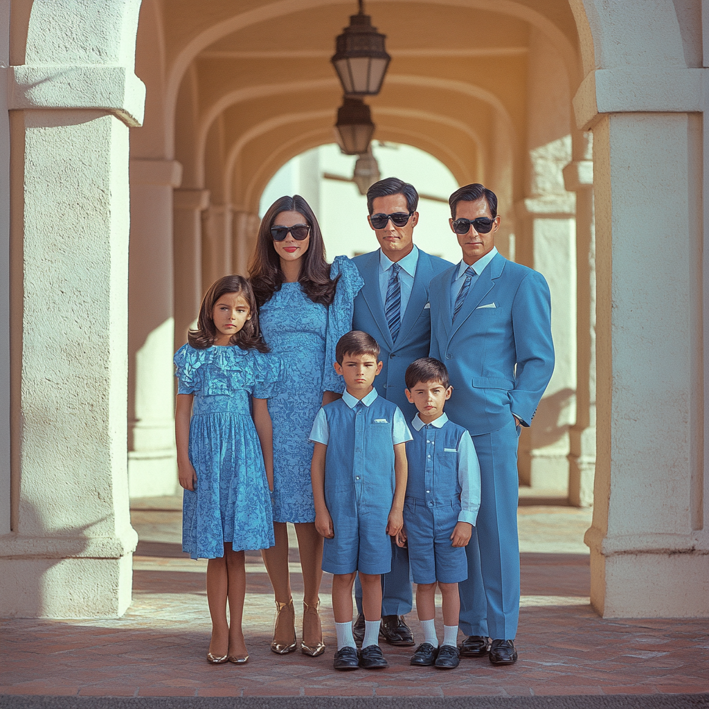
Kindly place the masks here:
<instances>
[{"instance_id":1,"label":"column just behind left front pillar, shaded above, sunlit below","mask_svg":"<svg viewBox=\"0 0 709 709\"><path fill-rule=\"evenodd\" d=\"M172 190L174 160L130 160L128 490L177 490L174 450Z\"/></svg>"}]
</instances>

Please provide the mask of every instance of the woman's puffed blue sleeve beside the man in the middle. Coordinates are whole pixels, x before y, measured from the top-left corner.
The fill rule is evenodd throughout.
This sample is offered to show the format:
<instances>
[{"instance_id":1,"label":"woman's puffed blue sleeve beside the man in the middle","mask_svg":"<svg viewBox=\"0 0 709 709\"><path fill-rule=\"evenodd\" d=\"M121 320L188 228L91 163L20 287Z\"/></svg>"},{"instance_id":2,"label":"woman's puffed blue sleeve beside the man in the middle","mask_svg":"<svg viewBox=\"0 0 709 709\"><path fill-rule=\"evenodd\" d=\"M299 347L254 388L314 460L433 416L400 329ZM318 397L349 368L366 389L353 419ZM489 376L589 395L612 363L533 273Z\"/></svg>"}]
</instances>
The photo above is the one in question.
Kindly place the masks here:
<instances>
[{"instance_id":1,"label":"woman's puffed blue sleeve beside the man in the middle","mask_svg":"<svg viewBox=\"0 0 709 709\"><path fill-rule=\"evenodd\" d=\"M335 372L335 347L342 335L352 330L352 314L354 312L354 297L357 296L364 281L359 275L359 269L346 256L337 256L330 269L330 278L337 281L335 299L328 307L328 328L325 331L325 372L323 372L323 391L341 393L345 389L345 381Z\"/></svg>"}]
</instances>

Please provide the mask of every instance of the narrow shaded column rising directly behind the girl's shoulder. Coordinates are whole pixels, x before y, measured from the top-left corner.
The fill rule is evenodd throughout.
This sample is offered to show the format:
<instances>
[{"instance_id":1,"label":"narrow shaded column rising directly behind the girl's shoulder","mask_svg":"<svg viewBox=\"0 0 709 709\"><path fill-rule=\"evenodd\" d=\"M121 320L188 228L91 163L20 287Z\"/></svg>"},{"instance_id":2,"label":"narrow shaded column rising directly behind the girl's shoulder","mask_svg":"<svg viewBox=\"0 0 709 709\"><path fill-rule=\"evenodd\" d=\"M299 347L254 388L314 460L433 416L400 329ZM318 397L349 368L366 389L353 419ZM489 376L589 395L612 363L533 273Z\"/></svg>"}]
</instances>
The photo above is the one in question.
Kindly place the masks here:
<instances>
[{"instance_id":1,"label":"narrow shaded column rising directly behind the girl's shoulder","mask_svg":"<svg viewBox=\"0 0 709 709\"><path fill-rule=\"evenodd\" d=\"M209 204L206 189L176 189L173 195L175 337L174 349L187 341L203 296L202 216ZM208 287L210 284L206 284Z\"/></svg>"}]
</instances>

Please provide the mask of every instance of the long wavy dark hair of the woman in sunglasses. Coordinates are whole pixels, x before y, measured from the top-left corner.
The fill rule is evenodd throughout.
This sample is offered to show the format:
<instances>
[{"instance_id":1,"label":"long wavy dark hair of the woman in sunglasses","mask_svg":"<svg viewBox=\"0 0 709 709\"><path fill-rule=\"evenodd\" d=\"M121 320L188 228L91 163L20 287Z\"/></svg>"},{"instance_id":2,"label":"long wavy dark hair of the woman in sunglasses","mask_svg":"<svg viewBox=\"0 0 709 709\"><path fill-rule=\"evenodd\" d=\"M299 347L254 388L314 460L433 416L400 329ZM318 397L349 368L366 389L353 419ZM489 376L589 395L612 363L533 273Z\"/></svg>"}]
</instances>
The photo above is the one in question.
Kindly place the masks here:
<instances>
[{"instance_id":1,"label":"long wavy dark hair of the woman in sunglasses","mask_svg":"<svg viewBox=\"0 0 709 709\"><path fill-rule=\"evenodd\" d=\"M256 250L249 269L251 285L259 306L269 301L283 285L283 272L273 245L271 227L281 212L299 212L311 228L308 250L303 255L298 283L313 303L329 306L335 297L339 276L330 280L330 264L325 261L325 243L313 210L299 195L279 197L266 211L256 240Z\"/></svg>"}]
</instances>

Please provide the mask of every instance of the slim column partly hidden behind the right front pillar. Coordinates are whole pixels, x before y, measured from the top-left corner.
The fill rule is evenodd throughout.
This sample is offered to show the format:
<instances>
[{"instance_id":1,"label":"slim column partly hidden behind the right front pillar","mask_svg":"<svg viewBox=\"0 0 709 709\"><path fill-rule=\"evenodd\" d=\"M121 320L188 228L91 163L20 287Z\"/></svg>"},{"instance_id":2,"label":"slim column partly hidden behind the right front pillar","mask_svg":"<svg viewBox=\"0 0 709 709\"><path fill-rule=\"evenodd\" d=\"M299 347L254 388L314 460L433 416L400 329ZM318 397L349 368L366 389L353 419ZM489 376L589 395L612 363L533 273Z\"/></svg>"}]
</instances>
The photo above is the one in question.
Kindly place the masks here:
<instances>
[{"instance_id":1,"label":"slim column partly hidden behind the right front pillar","mask_svg":"<svg viewBox=\"0 0 709 709\"><path fill-rule=\"evenodd\" d=\"M593 150L586 133L584 142ZM596 233L593 161L582 155L564 168L564 184L576 192L576 423L569 429L569 503L593 505L596 473ZM589 158L589 159L584 159Z\"/></svg>"}]
</instances>

